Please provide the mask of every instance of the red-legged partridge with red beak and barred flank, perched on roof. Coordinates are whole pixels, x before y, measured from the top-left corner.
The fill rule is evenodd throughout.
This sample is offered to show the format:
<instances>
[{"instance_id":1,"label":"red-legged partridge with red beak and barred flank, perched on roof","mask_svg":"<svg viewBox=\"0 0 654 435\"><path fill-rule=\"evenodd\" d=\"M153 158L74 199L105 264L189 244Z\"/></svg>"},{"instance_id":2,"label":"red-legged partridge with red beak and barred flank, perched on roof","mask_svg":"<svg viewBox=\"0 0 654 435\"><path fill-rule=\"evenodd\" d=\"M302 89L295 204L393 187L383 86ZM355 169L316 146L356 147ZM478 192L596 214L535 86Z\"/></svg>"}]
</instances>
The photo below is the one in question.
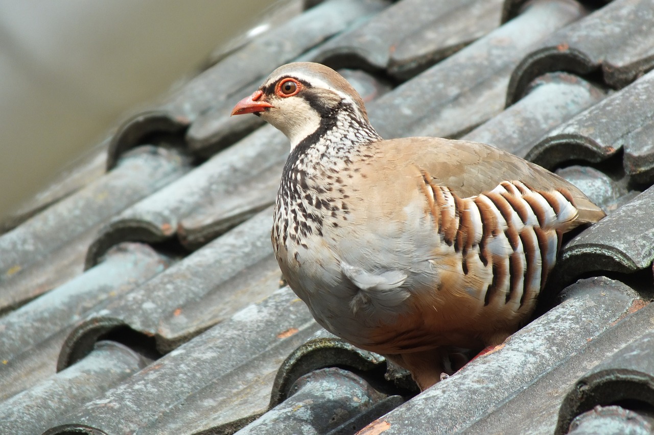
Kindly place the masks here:
<instances>
[{"instance_id":1,"label":"red-legged partridge with red beak and barred flank, perched on roof","mask_svg":"<svg viewBox=\"0 0 654 435\"><path fill-rule=\"evenodd\" d=\"M360 95L319 63L275 69L232 110L249 113L290 141L271 230L284 279L317 323L421 391L451 374L448 355L523 327L562 235L606 216L494 146L381 138Z\"/></svg>"}]
</instances>

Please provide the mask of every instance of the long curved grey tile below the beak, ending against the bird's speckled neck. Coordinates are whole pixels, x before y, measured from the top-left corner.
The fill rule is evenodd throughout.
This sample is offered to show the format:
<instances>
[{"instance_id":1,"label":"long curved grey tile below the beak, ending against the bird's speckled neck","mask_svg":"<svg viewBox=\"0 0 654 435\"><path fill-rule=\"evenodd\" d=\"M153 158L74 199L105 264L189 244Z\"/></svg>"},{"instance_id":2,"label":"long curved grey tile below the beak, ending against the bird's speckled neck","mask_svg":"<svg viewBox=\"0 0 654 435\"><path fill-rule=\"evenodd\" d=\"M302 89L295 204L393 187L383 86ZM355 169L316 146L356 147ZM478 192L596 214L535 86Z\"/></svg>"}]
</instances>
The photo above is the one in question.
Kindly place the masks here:
<instances>
[{"instance_id":1,"label":"long curved grey tile below the beak, ending against the bird's speckled neck","mask_svg":"<svg viewBox=\"0 0 654 435\"><path fill-rule=\"evenodd\" d=\"M129 240L162 242L177 236L181 219L186 218L192 222L196 210L199 220L207 218L207 210L209 213L211 210L219 211L220 203L230 192L237 191L239 185L253 182L252 171L279 177L288 151L288 140L282 133L269 125L258 129L186 176L114 217L103 227L94 244L90 246L87 265L93 265L97 257L116 243ZM266 183L264 180L262 178L261 181ZM251 203L241 204L242 210L260 209L262 198L254 195L250 199ZM249 213L241 212L236 217L238 216L245 219ZM198 238L207 237L203 236L203 233L208 231L207 227L212 236L215 236L216 228L228 228L237 223L237 219L230 212L226 212L222 217L228 220L228 225L223 225L220 216L216 216L216 219L208 224L205 221L205 224L200 226ZM190 228L184 229L184 237L187 239L194 236L189 234L192 233ZM197 246L197 240L191 240L190 245Z\"/></svg>"}]
</instances>

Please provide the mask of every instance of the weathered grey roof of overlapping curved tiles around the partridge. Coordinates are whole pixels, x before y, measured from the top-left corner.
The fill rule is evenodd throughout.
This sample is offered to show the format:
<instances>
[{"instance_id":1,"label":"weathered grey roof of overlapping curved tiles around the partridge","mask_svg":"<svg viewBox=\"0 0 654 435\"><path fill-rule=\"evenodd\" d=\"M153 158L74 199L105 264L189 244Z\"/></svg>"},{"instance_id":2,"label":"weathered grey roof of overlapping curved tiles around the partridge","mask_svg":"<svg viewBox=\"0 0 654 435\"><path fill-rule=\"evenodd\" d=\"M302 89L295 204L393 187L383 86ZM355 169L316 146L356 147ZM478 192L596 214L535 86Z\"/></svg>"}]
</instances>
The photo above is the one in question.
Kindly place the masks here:
<instances>
[{"instance_id":1,"label":"weathered grey roof of overlapping curved tiles around the partridge","mask_svg":"<svg viewBox=\"0 0 654 435\"><path fill-rule=\"evenodd\" d=\"M651 430L654 4L432 3L307 9L6 219L3 432ZM383 357L327 334L269 245L286 139L228 117L272 69L305 59L350 68L384 137L464 137L559 168L610 216L564 248L551 293L597 278L415 397Z\"/></svg>"}]
</instances>

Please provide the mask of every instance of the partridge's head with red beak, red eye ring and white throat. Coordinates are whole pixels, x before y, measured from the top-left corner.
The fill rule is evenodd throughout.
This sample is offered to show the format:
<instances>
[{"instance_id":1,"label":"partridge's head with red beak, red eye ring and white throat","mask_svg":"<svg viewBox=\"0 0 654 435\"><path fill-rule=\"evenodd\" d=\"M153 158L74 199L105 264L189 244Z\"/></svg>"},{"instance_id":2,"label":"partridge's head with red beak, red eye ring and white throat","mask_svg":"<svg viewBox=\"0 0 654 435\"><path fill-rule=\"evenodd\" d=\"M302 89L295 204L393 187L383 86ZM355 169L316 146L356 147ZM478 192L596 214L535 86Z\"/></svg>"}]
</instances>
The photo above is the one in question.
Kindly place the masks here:
<instances>
[{"instance_id":1,"label":"partridge's head with red beak, red eye ring and white throat","mask_svg":"<svg viewBox=\"0 0 654 435\"><path fill-rule=\"evenodd\" d=\"M272 72L232 115L254 113L279 129L296 146L321 129L332 128L339 111L368 125L360 95L330 67L313 62L288 63Z\"/></svg>"}]
</instances>

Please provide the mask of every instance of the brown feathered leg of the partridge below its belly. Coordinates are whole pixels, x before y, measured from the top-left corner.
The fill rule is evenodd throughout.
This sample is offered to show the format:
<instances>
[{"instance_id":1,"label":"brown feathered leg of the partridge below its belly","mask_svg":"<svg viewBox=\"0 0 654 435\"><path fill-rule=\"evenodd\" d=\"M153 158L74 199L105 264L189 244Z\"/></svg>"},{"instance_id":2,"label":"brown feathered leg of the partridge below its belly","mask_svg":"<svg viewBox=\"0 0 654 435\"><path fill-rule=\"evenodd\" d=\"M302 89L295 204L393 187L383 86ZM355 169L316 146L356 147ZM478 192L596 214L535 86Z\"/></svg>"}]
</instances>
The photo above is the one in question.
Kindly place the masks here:
<instances>
[{"instance_id":1,"label":"brown feathered leg of the partridge below its belly","mask_svg":"<svg viewBox=\"0 0 654 435\"><path fill-rule=\"evenodd\" d=\"M462 353L451 347L436 347L426 351L386 355L390 361L411 372L411 377L424 391L441 380L443 374L451 375L466 362Z\"/></svg>"}]
</instances>

